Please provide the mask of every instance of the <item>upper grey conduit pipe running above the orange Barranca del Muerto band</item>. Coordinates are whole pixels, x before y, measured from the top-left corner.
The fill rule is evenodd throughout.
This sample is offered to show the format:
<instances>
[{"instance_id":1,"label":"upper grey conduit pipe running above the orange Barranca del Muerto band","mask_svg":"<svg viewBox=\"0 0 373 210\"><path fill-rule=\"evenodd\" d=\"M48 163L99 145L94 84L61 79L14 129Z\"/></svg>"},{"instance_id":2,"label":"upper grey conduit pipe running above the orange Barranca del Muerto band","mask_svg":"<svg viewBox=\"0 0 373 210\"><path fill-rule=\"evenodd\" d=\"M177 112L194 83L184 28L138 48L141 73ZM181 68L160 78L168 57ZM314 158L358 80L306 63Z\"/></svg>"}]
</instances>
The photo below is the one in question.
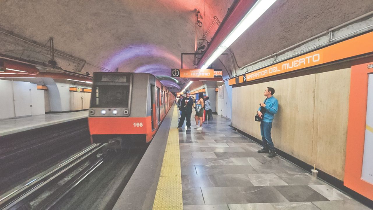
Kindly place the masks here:
<instances>
[{"instance_id":1,"label":"upper grey conduit pipe running above the orange Barranca del Muerto band","mask_svg":"<svg viewBox=\"0 0 373 210\"><path fill-rule=\"evenodd\" d=\"M282 49L282 50L280 50L279 52L273 53L272 55L266 56L266 57L261 58L261 59L259 59L259 60L257 60L257 61L251 62L250 64L244 65L243 67L241 67L241 68L239 68L239 69L242 70L242 69L244 69L244 68L246 68L246 67L248 67L248 66L250 66L250 65L256 64L256 63L258 63L258 62L260 62L260 61L263 61L263 60L265 60L265 59L268 59L268 58L271 58L271 57L273 57L273 56L276 56L276 55L278 55L278 54L280 54L280 53L282 53L282 52L285 52L285 51L290 50L290 49L292 49L292 48L294 48L294 47L297 47L297 46L299 46L299 45L301 45L301 44L303 44L303 43L306 43L307 41L311 41L311 40L313 40L313 39L315 39L315 38L317 38L317 37L320 37L320 36L322 36L322 35L325 35L325 34L331 32L331 31L334 31L334 30L336 30L336 29L338 29L338 28L344 27L344 26L346 26L346 25L348 25L348 24L350 24L350 23L352 23L352 22L355 22L355 21L358 21L358 20L360 20L360 19L366 18L366 17L368 17L368 16L370 16L370 15L373 15L373 11L368 12L368 13L365 13L364 15L358 16L357 18L351 19L350 21L344 22L344 23L342 23L342 24L340 24L340 25L337 25L336 27L329 28L328 30L323 31L322 33L319 33L319 34L314 35L314 36L312 36L312 37L310 37L310 38L307 38L307 39L305 39L305 40L303 40L303 41L301 41L301 42L299 42L299 43L297 43L297 44L293 44L293 45L290 46L290 47L286 47L285 49Z\"/></svg>"}]
</instances>

